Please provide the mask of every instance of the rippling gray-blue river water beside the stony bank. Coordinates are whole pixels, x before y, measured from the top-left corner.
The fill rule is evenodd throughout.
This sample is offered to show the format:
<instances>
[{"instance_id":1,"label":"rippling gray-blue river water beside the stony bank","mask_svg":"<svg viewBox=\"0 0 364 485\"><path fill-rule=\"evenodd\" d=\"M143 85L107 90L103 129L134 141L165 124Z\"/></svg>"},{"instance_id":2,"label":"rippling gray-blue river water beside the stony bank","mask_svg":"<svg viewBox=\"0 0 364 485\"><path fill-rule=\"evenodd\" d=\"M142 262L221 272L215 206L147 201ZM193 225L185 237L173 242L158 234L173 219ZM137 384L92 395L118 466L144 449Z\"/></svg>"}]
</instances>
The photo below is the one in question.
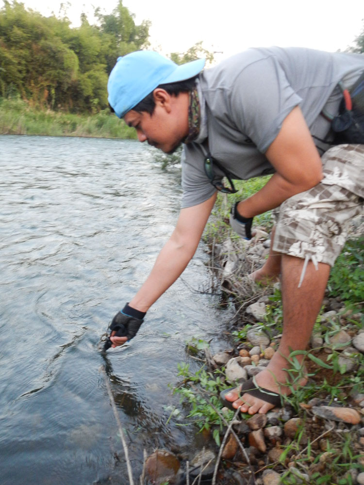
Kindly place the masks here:
<instances>
[{"instance_id":1,"label":"rippling gray-blue river water beside the stony bank","mask_svg":"<svg viewBox=\"0 0 364 485\"><path fill-rule=\"evenodd\" d=\"M193 450L169 384L192 336L226 346L231 314L198 251L106 359L112 316L140 287L177 220L179 169L134 141L0 137L0 484L126 484L105 366L134 480L143 449ZM195 361L192 365L196 367ZM172 407L173 409L173 407ZM168 422L167 422L168 421Z\"/></svg>"}]
</instances>

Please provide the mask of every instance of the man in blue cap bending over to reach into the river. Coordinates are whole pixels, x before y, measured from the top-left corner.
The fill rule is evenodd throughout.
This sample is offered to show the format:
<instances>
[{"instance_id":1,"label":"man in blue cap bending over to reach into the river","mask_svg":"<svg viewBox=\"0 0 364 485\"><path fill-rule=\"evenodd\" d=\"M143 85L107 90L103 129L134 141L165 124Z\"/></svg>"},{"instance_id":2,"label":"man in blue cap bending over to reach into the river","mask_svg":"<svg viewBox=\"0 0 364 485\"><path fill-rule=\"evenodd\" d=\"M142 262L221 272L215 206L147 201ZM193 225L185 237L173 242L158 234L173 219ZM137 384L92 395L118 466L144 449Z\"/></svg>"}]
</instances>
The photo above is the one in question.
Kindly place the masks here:
<instances>
[{"instance_id":1,"label":"man in blue cap bending over to reach into the river","mask_svg":"<svg viewBox=\"0 0 364 485\"><path fill-rule=\"evenodd\" d=\"M149 307L181 275L216 189L233 191L223 186L223 176L273 173L260 191L235 205L231 223L249 239L252 218L276 210L269 258L252 277L266 281L281 274L283 334L254 382L240 395L234 389L225 396L233 408L266 413L291 392L284 371L289 355L306 348L347 221L363 209L364 145L331 147L330 118L339 112L343 89L364 71L364 56L250 49L202 68L203 60L177 66L139 51L119 58L110 74L109 103L139 141L165 153L184 143L176 228L146 282L114 317L110 342L116 347L134 337ZM300 385L305 383L303 378Z\"/></svg>"}]
</instances>

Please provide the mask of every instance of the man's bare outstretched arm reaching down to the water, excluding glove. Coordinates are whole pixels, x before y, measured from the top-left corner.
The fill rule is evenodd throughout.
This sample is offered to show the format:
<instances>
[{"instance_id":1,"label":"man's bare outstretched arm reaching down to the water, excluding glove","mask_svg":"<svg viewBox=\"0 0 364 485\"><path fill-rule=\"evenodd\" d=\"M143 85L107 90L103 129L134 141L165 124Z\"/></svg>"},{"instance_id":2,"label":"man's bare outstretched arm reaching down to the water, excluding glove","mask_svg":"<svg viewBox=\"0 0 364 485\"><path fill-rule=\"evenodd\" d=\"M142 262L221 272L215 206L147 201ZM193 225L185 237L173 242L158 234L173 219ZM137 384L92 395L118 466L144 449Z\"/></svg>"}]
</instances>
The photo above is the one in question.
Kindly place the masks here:
<instances>
[{"instance_id":1,"label":"man's bare outstretched arm reaching down to the water, excluding glove","mask_svg":"<svg viewBox=\"0 0 364 485\"><path fill-rule=\"evenodd\" d=\"M159 253L147 280L129 303L130 307L146 312L182 274L195 254L215 200L216 194L201 204L181 210L171 237ZM113 333L113 347L127 340L126 337L114 337Z\"/></svg>"}]
</instances>

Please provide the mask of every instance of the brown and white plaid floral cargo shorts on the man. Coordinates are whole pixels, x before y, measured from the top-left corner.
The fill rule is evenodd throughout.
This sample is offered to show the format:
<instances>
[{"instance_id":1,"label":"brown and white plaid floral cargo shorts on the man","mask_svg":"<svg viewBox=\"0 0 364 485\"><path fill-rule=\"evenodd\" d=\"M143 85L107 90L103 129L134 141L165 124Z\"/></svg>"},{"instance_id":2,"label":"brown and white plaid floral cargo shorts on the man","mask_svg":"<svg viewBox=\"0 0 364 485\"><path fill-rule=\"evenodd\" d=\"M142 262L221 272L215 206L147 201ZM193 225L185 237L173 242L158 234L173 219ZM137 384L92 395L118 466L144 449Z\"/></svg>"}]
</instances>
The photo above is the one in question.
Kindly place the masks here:
<instances>
[{"instance_id":1,"label":"brown and white plaid floral cargo shorts on the man","mask_svg":"<svg viewBox=\"0 0 364 485\"><path fill-rule=\"evenodd\" d=\"M364 145L338 145L322 156L322 181L273 211L273 249L333 266L350 219L363 210Z\"/></svg>"}]
</instances>

